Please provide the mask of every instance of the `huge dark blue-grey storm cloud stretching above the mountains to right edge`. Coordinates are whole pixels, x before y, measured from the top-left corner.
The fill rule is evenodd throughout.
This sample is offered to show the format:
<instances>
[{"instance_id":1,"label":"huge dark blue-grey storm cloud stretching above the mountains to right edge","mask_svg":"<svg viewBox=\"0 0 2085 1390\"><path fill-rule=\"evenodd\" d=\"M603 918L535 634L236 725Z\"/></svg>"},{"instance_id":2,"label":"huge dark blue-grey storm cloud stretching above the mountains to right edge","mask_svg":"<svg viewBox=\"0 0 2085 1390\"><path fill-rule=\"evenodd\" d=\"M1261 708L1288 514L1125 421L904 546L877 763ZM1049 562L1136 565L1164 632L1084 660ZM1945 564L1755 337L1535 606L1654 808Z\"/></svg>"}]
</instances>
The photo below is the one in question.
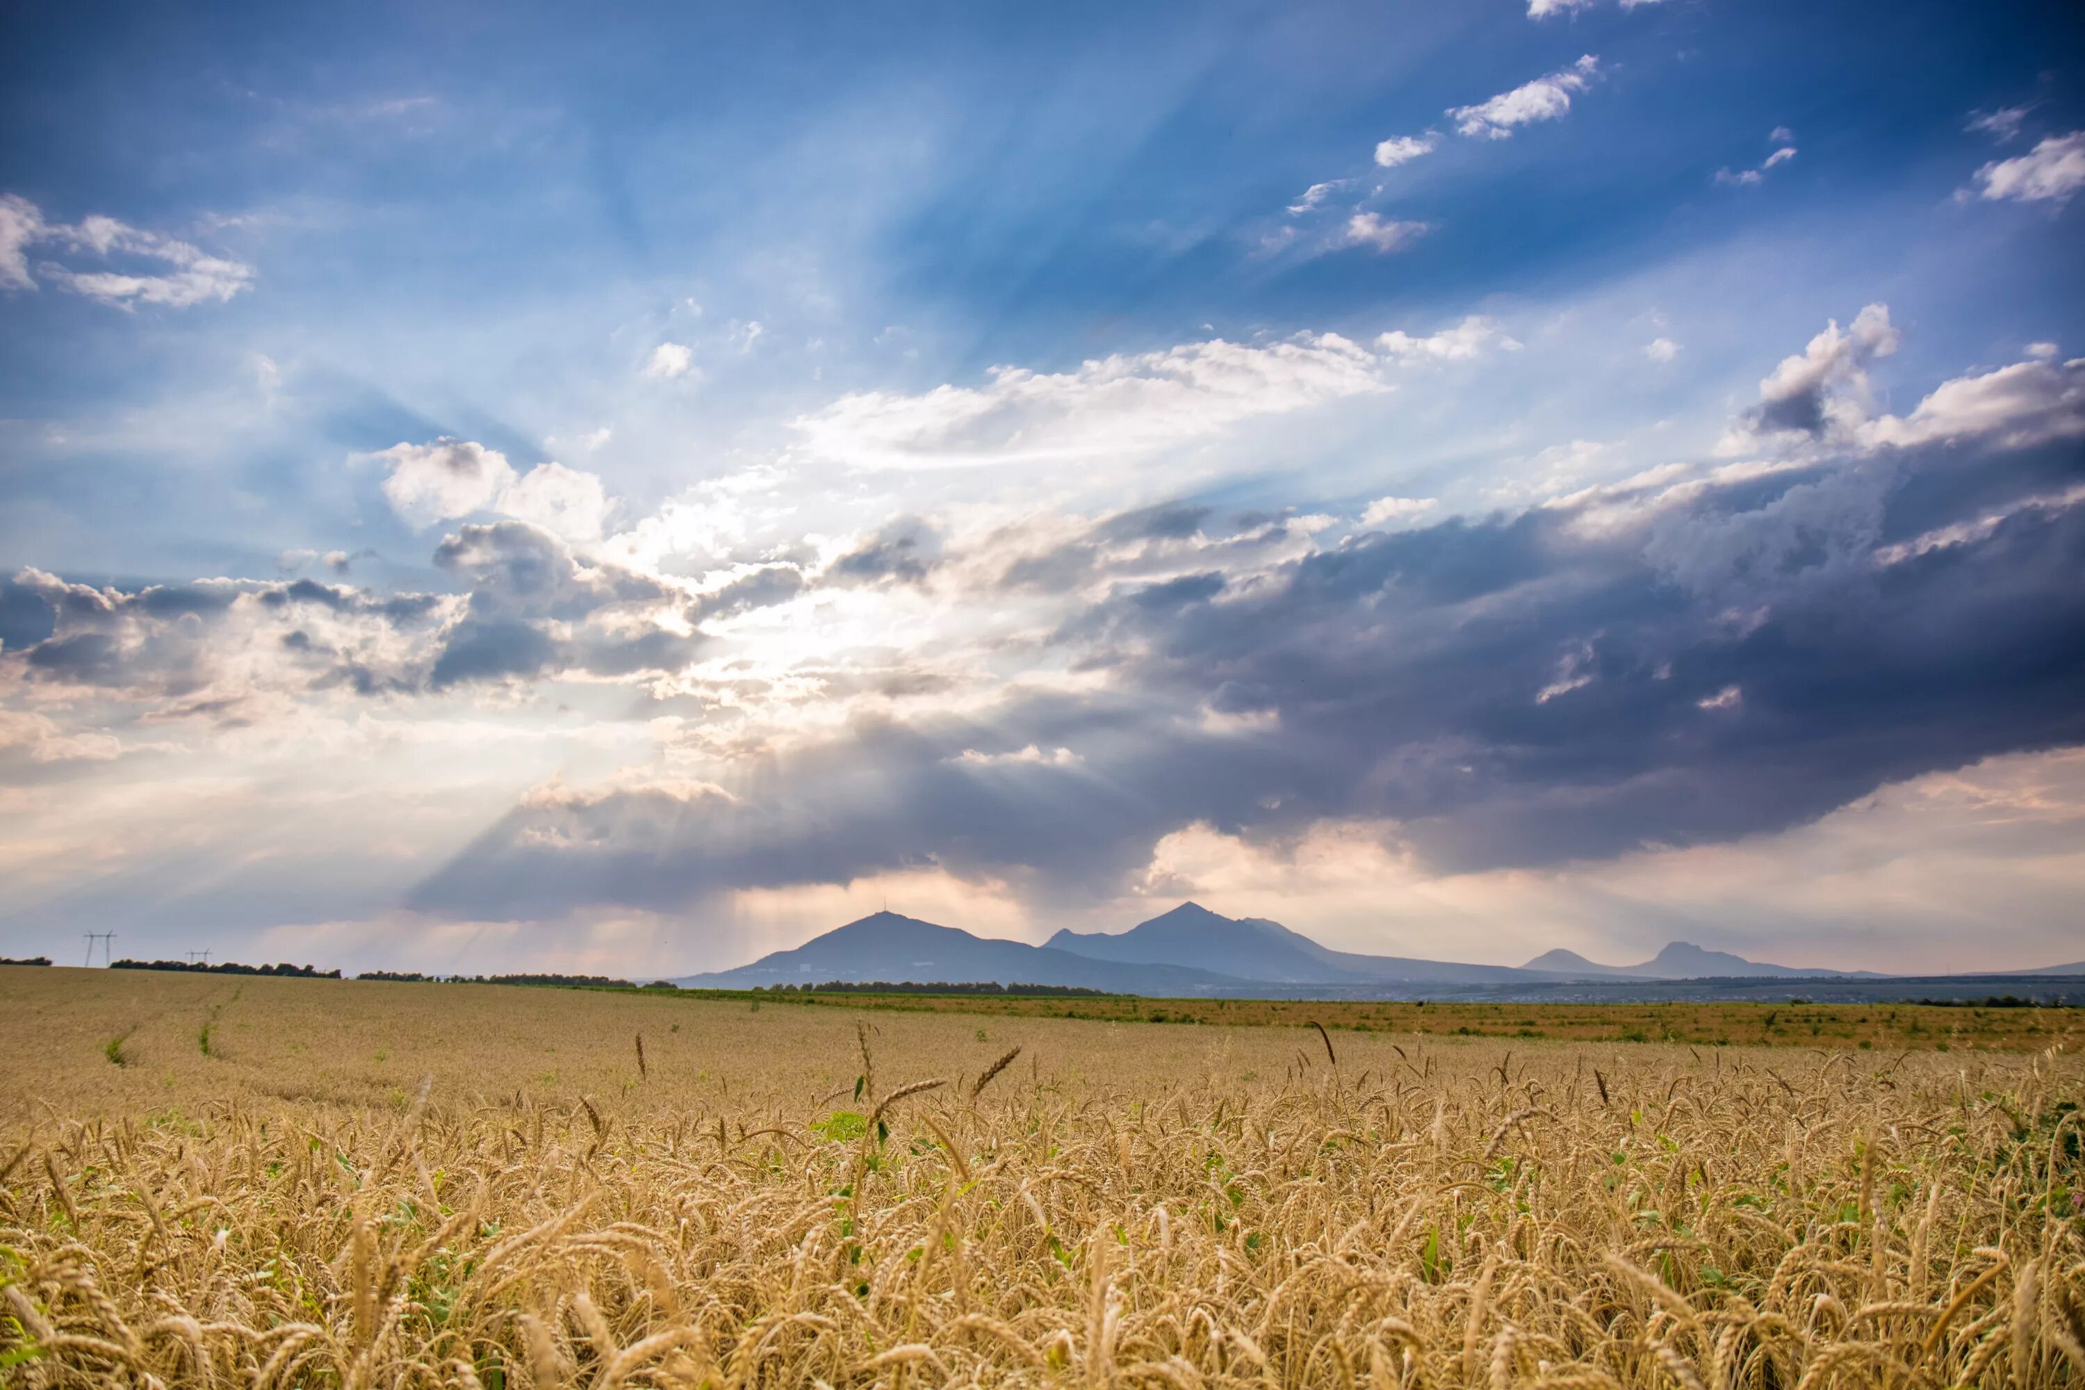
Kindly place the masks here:
<instances>
[{"instance_id":1,"label":"huge dark blue-grey storm cloud stretching above the mountains to right edge","mask_svg":"<svg viewBox=\"0 0 2085 1390\"><path fill-rule=\"evenodd\" d=\"M1384 819L1441 869L1781 829L2085 740L2085 506L2047 500L2081 481L2075 442L1929 448L1118 586L1059 634L1107 652L1105 696L857 725L736 800L523 806L419 900L673 907L919 863L1109 894L1195 821Z\"/></svg>"}]
</instances>

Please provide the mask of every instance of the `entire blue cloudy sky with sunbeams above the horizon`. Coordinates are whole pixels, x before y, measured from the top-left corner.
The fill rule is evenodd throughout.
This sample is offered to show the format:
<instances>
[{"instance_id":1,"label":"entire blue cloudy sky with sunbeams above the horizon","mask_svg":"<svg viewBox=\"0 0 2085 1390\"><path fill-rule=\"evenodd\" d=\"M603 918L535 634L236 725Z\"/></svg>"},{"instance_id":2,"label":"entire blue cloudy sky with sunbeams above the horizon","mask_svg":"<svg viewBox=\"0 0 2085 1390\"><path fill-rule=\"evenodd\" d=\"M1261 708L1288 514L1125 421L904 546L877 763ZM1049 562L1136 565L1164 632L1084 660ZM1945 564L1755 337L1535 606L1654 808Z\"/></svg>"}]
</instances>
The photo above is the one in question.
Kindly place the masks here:
<instances>
[{"instance_id":1,"label":"entire blue cloudy sky with sunbeams above the horizon","mask_svg":"<svg viewBox=\"0 0 2085 1390\"><path fill-rule=\"evenodd\" d=\"M0 15L0 954L2085 957L2075 4Z\"/></svg>"}]
</instances>

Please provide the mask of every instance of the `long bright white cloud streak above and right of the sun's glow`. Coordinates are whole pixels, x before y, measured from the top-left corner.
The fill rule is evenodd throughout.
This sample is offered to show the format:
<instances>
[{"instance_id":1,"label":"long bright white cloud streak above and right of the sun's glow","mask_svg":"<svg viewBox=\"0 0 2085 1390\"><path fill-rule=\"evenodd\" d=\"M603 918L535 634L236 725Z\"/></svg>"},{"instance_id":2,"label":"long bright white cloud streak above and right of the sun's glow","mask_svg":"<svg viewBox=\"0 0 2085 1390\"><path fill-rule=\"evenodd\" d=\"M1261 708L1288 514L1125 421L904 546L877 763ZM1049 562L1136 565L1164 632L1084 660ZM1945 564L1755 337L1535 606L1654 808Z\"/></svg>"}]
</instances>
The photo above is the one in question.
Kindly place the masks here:
<instances>
[{"instance_id":1,"label":"long bright white cloud streak above and right of the sun's glow","mask_svg":"<svg viewBox=\"0 0 2085 1390\"><path fill-rule=\"evenodd\" d=\"M1339 333L1251 346L1182 344L1072 371L995 367L984 386L861 392L792 427L813 458L934 469L1013 458L1140 454L1266 415L1387 390L1376 354Z\"/></svg>"}]
</instances>

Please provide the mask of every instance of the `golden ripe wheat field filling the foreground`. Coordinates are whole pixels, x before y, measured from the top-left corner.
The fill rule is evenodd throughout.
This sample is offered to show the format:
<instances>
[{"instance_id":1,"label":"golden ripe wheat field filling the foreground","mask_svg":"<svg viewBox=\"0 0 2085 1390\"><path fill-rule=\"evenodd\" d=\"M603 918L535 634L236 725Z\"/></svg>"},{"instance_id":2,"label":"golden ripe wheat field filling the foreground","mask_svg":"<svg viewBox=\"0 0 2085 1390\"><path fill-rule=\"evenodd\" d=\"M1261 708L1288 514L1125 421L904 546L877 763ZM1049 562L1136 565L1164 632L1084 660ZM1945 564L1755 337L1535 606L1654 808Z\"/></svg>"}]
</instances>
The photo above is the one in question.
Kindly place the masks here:
<instances>
[{"instance_id":1,"label":"golden ripe wheat field filling the foreground","mask_svg":"<svg viewBox=\"0 0 2085 1390\"><path fill-rule=\"evenodd\" d=\"M0 969L8 1386L2085 1386L2075 1040Z\"/></svg>"}]
</instances>

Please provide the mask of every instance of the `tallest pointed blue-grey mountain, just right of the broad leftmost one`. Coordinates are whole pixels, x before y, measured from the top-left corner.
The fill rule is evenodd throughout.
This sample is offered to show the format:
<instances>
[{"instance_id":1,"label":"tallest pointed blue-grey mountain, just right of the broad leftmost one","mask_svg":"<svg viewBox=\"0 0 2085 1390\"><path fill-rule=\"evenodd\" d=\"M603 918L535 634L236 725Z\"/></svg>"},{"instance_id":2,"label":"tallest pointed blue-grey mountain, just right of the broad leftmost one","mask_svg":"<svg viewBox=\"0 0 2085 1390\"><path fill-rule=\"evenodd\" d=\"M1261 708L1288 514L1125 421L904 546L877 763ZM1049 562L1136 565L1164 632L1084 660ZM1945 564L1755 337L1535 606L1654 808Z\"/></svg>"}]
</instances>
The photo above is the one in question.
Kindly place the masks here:
<instances>
[{"instance_id":1,"label":"tallest pointed blue-grey mountain, just right of the broad leftmost one","mask_svg":"<svg viewBox=\"0 0 2085 1390\"><path fill-rule=\"evenodd\" d=\"M1197 965L1264 984L1512 984L1539 979L1512 965L1460 965L1330 950L1266 917L1224 917L1199 902L1140 921L1120 936L1059 932L1049 946L1097 961Z\"/></svg>"}]
</instances>

